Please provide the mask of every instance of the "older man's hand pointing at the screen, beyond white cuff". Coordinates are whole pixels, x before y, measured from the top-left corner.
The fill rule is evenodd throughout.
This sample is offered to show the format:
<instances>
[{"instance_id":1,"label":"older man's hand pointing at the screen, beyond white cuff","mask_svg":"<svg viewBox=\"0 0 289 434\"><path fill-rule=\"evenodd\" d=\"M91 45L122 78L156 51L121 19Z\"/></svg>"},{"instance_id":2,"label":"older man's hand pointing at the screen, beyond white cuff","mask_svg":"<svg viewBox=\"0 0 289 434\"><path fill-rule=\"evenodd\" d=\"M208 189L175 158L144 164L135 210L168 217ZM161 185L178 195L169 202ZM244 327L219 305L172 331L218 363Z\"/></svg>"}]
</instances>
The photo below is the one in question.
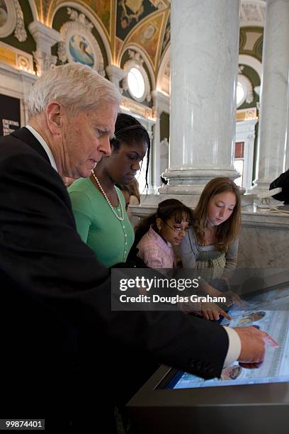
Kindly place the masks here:
<instances>
[{"instance_id":1,"label":"older man's hand pointing at the screen, beyond white cuff","mask_svg":"<svg viewBox=\"0 0 289 434\"><path fill-rule=\"evenodd\" d=\"M278 343L268 333L255 327L234 327L241 339L241 353L239 365L248 369L256 368L263 363L266 343L272 347L278 347Z\"/></svg>"}]
</instances>

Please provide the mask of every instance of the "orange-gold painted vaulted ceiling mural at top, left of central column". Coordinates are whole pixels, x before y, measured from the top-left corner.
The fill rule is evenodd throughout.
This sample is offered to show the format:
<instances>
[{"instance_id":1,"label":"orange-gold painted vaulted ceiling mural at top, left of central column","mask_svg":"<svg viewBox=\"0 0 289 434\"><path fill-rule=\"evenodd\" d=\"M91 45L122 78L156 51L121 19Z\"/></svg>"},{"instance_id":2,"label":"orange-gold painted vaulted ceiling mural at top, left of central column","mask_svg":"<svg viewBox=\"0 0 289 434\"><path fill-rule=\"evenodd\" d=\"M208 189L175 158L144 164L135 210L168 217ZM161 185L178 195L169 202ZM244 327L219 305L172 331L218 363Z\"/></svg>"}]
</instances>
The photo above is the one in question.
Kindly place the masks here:
<instances>
[{"instance_id":1,"label":"orange-gold painted vaulted ceiling mural at top, left of central column","mask_svg":"<svg viewBox=\"0 0 289 434\"><path fill-rule=\"evenodd\" d=\"M52 26L55 10L67 0L34 0L40 21ZM126 45L145 50L157 75L162 54L169 44L170 0L74 0L69 6L96 18L106 30L113 59L120 61Z\"/></svg>"}]
</instances>

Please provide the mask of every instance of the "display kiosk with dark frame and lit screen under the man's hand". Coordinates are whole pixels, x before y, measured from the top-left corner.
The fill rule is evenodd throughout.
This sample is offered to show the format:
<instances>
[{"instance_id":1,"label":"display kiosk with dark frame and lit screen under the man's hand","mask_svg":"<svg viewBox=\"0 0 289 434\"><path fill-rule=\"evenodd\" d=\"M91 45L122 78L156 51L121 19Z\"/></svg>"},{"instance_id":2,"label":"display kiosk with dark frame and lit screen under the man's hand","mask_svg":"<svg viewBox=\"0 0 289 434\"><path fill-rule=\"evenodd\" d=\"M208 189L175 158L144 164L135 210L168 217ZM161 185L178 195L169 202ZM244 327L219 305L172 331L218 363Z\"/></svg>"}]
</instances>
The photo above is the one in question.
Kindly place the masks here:
<instances>
[{"instance_id":1,"label":"display kiosk with dark frame and lit screen under the man's hand","mask_svg":"<svg viewBox=\"0 0 289 434\"><path fill-rule=\"evenodd\" d=\"M250 294L229 311L229 327L254 325L272 335L259 369L234 363L204 380L160 367L129 401L134 432L166 434L289 433L289 284Z\"/></svg>"}]
</instances>

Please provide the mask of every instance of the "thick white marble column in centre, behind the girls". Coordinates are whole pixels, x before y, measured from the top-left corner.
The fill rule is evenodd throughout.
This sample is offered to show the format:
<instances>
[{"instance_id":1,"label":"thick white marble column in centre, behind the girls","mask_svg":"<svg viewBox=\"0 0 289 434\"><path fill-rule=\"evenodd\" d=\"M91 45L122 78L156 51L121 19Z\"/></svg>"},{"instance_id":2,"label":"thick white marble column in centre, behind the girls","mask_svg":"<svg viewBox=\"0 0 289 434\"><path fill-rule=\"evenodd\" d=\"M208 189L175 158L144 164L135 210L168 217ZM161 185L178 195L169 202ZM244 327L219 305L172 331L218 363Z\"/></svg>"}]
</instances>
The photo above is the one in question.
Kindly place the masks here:
<instances>
[{"instance_id":1,"label":"thick white marble column in centre, behind the girls","mask_svg":"<svg viewBox=\"0 0 289 434\"><path fill-rule=\"evenodd\" d=\"M169 185L162 194L200 194L232 179L239 55L239 0L171 0Z\"/></svg>"}]
</instances>

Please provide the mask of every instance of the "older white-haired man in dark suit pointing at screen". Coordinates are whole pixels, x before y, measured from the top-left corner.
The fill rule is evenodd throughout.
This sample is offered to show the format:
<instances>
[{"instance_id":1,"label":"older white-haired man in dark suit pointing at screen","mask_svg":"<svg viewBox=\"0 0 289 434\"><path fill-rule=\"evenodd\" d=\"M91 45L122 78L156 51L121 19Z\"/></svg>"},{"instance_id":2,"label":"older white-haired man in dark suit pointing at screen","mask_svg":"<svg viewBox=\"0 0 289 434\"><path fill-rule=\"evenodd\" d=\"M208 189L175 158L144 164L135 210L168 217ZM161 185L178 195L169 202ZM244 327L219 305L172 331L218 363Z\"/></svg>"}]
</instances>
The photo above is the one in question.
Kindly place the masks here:
<instances>
[{"instance_id":1,"label":"older white-haired man in dark suit pointing at screen","mask_svg":"<svg viewBox=\"0 0 289 434\"><path fill-rule=\"evenodd\" d=\"M205 378L233 360L263 361L269 338L256 328L228 332L180 312L111 311L110 272L77 234L64 179L89 177L110 154L119 104L118 90L93 69L56 67L35 82L28 126L0 140L1 418L74 429L79 394L89 393L82 379L97 372L103 406L95 399L91 416L109 414L121 345L130 357L153 355ZM96 365L81 377L84 330Z\"/></svg>"}]
</instances>

